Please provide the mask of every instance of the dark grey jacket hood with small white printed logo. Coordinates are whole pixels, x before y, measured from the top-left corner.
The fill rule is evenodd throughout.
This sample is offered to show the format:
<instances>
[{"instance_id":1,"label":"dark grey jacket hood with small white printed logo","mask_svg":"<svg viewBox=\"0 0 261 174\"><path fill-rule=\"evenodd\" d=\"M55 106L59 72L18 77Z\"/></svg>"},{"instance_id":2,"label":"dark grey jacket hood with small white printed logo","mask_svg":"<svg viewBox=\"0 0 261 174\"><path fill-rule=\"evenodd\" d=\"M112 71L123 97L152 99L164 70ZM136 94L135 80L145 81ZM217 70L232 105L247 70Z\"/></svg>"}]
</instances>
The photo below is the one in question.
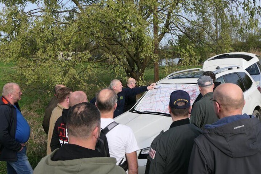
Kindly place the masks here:
<instances>
[{"instance_id":1,"label":"dark grey jacket hood with small white printed logo","mask_svg":"<svg viewBox=\"0 0 261 174\"><path fill-rule=\"evenodd\" d=\"M261 147L261 122L249 116L244 118L245 115L242 115L243 119L234 119L231 123L224 123L220 119L216 123L219 122L221 126L209 127L203 135L216 148L232 158L254 155ZM231 118L236 116L238 115Z\"/></svg>"}]
</instances>

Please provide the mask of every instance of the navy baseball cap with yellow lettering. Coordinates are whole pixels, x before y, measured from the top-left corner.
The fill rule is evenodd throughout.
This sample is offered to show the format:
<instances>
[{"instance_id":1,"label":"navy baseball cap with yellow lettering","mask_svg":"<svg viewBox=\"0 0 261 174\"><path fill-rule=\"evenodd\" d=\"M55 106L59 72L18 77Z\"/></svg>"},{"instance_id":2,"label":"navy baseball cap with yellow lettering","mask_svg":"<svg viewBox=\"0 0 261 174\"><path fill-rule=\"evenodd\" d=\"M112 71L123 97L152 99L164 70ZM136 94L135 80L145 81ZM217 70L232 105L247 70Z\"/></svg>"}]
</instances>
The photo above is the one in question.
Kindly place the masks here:
<instances>
[{"instance_id":1,"label":"navy baseball cap with yellow lettering","mask_svg":"<svg viewBox=\"0 0 261 174\"><path fill-rule=\"evenodd\" d=\"M178 106L177 103L185 102L183 106ZM190 107L190 96L186 91L177 90L171 93L170 96L170 107L176 109L185 109Z\"/></svg>"}]
</instances>

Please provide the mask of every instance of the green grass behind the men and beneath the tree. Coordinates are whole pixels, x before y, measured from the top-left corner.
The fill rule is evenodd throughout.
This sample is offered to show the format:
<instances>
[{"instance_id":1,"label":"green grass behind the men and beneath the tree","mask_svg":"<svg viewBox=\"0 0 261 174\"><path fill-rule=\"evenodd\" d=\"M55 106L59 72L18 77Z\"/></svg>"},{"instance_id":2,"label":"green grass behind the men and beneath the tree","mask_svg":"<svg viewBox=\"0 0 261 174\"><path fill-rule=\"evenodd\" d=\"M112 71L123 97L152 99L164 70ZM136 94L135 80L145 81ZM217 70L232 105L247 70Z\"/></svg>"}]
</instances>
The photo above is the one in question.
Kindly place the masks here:
<instances>
[{"instance_id":1,"label":"green grass behind the men and beneath the tree","mask_svg":"<svg viewBox=\"0 0 261 174\"><path fill-rule=\"evenodd\" d=\"M5 79L5 76L8 74L4 73L4 70L7 70L9 72L14 72L15 69L13 68L13 64L3 64L0 63L0 92L2 93L2 87L5 83L7 83L7 80ZM173 66L171 68L168 68L168 72L166 71L165 67L160 67L159 70L159 78L162 79L166 75L168 75L170 72L173 71L179 71L183 69L188 68L195 68L195 67L202 67L202 65L196 65L196 66ZM101 78L99 79L104 84L109 85L110 79L117 78L115 74L101 74ZM144 73L144 79L147 82L147 84L150 84L154 82L154 70L153 68L148 68ZM90 82L93 84L98 84L98 82ZM123 82L125 84L125 82ZM26 89L23 89L26 90ZM87 96L92 97L95 95L97 90L88 91L86 92ZM26 93L26 92L25 92ZM19 101L22 114L28 121L31 133L30 133L30 139L27 142L27 156L30 161L30 164L33 168L36 167L38 162L46 155L46 144L47 144L47 135L45 134L43 128L42 128L42 119L45 111L45 107L47 106L50 98L50 93L48 92L31 92L27 95L22 95L21 101ZM6 173L6 162L0 161L0 173L5 174Z\"/></svg>"}]
</instances>

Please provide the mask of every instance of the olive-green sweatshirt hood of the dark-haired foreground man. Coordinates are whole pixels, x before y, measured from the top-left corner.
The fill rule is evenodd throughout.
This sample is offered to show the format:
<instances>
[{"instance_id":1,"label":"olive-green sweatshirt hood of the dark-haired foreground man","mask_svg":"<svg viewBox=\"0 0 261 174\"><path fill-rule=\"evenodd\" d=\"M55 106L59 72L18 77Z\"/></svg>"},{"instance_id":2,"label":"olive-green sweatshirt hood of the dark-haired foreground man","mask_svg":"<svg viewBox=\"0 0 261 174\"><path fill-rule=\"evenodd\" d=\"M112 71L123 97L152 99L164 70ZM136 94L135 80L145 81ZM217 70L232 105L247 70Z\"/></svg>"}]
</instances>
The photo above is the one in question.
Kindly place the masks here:
<instances>
[{"instance_id":1,"label":"olive-green sweatshirt hood of the dark-haired foreground man","mask_svg":"<svg viewBox=\"0 0 261 174\"><path fill-rule=\"evenodd\" d=\"M75 160L52 161L51 158L58 149L42 158L34 173L63 173L63 174L96 174L110 173L114 170L116 159L112 157L82 158Z\"/></svg>"}]
</instances>

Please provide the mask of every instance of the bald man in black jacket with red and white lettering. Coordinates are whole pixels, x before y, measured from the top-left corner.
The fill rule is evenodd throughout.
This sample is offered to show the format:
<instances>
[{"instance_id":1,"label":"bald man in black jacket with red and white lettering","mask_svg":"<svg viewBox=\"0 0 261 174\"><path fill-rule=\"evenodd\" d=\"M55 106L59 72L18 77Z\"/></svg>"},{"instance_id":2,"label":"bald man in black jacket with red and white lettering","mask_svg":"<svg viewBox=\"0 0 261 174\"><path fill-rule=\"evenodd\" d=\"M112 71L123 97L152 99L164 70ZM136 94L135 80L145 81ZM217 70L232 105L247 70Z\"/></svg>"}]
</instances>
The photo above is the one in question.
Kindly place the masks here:
<instances>
[{"instance_id":1,"label":"bald man in black jacket with red and white lettering","mask_svg":"<svg viewBox=\"0 0 261 174\"><path fill-rule=\"evenodd\" d=\"M78 104L88 102L87 95L83 91L74 91L69 97L70 107ZM62 110L62 116L60 116L54 126L53 136L50 143L51 151L60 148L63 144L67 144L68 134L66 128L67 113L69 109Z\"/></svg>"}]
</instances>

